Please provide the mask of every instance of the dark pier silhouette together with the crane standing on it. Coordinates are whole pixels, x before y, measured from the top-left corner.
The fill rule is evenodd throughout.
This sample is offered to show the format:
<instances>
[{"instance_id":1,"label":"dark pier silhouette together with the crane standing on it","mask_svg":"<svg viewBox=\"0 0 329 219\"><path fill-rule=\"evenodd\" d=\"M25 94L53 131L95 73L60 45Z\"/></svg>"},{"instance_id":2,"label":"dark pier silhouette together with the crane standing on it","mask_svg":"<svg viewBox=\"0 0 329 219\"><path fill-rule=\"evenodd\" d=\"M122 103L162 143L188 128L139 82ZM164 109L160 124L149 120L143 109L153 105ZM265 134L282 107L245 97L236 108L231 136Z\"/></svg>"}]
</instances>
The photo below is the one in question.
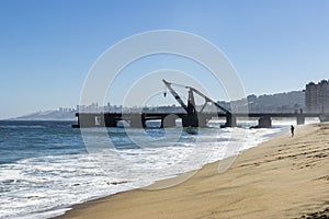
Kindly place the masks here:
<instances>
[{"instance_id":1,"label":"dark pier silhouette together with the crane standing on it","mask_svg":"<svg viewBox=\"0 0 329 219\"><path fill-rule=\"evenodd\" d=\"M133 128L146 128L148 120L160 120L160 128L174 127L175 120L181 119L183 127L207 127L207 123L213 118L225 118L226 122L222 127L236 127L238 118L258 118L256 128L272 127L272 118L296 118L296 124L305 124L306 117L318 117L321 122L328 120L329 115L320 113L303 113L296 111L294 113L234 113L213 101L211 97L203 94L195 88L182 85L173 82L162 80L169 92L175 101L184 110L183 113L77 113L78 124L72 127L117 127L118 122L125 120L131 124ZM188 103L185 104L181 96L175 92L173 87L180 87L188 90ZM167 92L163 93L164 97ZM204 104L197 112L195 107L194 95L198 95L204 100ZM205 112L206 105L211 103L217 112ZM326 118L326 119L324 119Z\"/></svg>"}]
</instances>

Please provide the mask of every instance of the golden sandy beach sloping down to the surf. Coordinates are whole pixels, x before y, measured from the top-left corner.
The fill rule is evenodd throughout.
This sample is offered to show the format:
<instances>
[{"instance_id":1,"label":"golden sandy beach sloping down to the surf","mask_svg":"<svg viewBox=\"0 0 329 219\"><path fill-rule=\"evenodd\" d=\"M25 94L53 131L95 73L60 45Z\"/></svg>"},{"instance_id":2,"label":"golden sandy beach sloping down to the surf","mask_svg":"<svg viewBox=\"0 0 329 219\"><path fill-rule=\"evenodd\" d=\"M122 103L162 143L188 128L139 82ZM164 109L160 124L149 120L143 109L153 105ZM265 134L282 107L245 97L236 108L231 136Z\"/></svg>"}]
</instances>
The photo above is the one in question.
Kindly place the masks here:
<instances>
[{"instance_id":1,"label":"golden sandy beach sloping down to the surf","mask_svg":"<svg viewBox=\"0 0 329 219\"><path fill-rule=\"evenodd\" d=\"M297 126L294 138L275 137L217 170L215 162L177 186L120 193L58 218L329 218L329 124Z\"/></svg>"}]
</instances>

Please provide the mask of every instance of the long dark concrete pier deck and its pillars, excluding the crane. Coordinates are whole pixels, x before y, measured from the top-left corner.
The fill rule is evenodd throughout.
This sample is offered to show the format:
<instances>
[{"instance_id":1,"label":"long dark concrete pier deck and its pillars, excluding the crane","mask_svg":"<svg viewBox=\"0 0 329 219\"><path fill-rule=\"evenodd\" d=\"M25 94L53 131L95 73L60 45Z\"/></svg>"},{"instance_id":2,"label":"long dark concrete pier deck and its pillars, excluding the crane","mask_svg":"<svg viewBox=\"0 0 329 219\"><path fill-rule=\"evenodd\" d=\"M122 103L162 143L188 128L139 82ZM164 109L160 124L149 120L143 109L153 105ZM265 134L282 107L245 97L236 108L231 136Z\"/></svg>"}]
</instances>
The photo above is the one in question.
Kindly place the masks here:
<instances>
[{"instance_id":1,"label":"long dark concrete pier deck and its pillars, excluding the crane","mask_svg":"<svg viewBox=\"0 0 329 219\"><path fill-rule=\"evenodd\" d=\"M116 127L120 120L126 120L133 128L145 128L147 120L161 120L161 128L174 127L178 118L182 119L183 127L206 127L206 124L212 118L225 117L226 123L223 127L235 127L237 126L238 117L259 118L259 128L272 127L272 118L286 118L295 117L297 125L305 124L306 117L319 117L321 120L324 117L329 119L329 115L324 116L322 114L304 114L304 113L198 113L188 115L186 113L132 113L132 114L118 114L118 113L77 113L78 124L72 127L88 128L88 127Z\"/></svg>"}]
</instances>

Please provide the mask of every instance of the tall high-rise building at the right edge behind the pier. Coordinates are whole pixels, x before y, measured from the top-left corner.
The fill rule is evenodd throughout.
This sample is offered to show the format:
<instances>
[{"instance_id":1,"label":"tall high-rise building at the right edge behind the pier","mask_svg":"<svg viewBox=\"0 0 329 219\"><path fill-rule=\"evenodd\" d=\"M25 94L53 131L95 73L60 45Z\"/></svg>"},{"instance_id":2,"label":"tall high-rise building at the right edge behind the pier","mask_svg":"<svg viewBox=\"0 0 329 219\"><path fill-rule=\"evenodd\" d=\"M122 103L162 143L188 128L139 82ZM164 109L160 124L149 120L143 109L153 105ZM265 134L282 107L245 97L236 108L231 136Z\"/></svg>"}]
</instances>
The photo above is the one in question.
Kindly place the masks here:
<instances>
[{"instance_id":1,"label":"tall high-rise building at the right edge behind the pier","mask_svg":"<svg viewBox=\"0 0 329 219\"><path fill-rule=\"evenodd\" d=\"M305 107L308 113L329 113L329 82L306 84Z\"/></svg>"}]
</instances>

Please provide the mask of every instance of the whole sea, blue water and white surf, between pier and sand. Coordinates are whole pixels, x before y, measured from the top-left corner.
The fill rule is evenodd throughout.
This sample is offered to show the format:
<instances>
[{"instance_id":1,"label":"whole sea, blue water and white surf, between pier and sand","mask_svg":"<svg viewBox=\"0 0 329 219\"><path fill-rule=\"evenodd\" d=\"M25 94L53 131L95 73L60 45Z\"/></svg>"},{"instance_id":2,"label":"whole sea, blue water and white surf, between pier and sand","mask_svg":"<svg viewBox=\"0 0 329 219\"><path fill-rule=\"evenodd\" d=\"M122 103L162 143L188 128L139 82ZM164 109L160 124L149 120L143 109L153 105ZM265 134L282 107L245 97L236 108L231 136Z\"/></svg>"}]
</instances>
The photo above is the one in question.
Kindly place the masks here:
<instances>
[{"instance_id":1,"label":"whole sea, blue water and white surf, between pier and sand","mask_svg":"<svg viewBox=\"0 0 329 219\"><path fill-rule=\"evenodd\" d=\"M49 218L71 205L200 169L286 128L71 128L0 120L0 218ZM218 124L215 126L218 126Z\"/></svg>"}]
</instances>

